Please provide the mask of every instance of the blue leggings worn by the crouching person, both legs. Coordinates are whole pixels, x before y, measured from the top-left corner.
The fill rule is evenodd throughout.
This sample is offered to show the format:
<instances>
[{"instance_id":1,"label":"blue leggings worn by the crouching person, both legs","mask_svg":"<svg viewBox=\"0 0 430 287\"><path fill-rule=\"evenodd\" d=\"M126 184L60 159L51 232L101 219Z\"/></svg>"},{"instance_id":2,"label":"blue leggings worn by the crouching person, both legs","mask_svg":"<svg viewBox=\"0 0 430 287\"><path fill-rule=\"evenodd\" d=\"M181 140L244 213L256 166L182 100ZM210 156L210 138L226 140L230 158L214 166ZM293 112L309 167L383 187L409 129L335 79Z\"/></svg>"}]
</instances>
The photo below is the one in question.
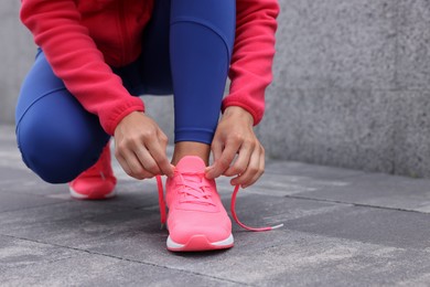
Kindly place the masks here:
<instances>
[{"instance_id":1,"label":"blue leggings worn by the crouching person, both legs","mask_svg":"<svg viewBox=\"0 0 430 287\"><path fill-rule=\"evenodd\" d=\"M174 95L175 142L211 144L235 32L235 0L157 0L140 57L114 68L132 95ZM17 140L26 166L64 183L93 166L109 140L39 50L18 100Z\"/></svg>"}]
</instances>

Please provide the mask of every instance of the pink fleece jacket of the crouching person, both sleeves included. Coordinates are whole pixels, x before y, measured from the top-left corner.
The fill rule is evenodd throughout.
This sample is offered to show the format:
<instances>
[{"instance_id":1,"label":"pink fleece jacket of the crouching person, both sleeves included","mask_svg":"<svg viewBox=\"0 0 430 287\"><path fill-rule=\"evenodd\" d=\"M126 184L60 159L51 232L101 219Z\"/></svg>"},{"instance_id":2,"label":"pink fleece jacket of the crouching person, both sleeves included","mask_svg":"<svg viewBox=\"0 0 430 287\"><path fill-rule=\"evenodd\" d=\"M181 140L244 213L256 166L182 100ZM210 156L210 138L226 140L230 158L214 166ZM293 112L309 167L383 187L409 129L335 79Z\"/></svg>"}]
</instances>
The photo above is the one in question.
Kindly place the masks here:
<instances>
[{"instance_id":1,"label":"pink fleece jacket of the crouching person, both sleeves included","mask_svg":"<svg viewBox=\"0 0 430 287\"><path fill-rule=\"evenodd\" d=\"M223 110L240 106L257 125L265 89L272 79L277 0L236 0L236 41L229 95ZM127 7L127 9L126 9ZM143 111L110 66L135 61L153 0L22 0L21 20L42 47L52 68L109 135L131 111Z\"/></svg>"}]
</instances>

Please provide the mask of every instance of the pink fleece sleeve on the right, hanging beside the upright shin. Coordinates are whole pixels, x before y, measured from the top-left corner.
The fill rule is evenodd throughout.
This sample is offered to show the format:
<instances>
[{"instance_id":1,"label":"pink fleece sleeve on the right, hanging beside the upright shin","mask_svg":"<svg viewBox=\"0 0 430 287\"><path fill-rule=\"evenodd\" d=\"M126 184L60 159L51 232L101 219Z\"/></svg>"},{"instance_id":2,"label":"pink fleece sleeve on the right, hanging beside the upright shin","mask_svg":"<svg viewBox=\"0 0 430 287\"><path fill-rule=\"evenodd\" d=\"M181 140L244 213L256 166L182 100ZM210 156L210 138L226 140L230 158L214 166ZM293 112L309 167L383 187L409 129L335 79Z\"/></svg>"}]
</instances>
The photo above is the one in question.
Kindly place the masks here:
<instances>
[{"instance_id":1,"label":"pink fleece sleeve on the right, hanging beside the upright shin","mask_svg":"<svg viewBox=\"0 0 430 287\"><path fill-rule=\"evenodd\" d=\"M232 56L229 106L248 110L257 125L265 111L265 89L272 81L275 32L279 4L277 0L237 0L236 39Z\"/></svg>"}]
</instances>

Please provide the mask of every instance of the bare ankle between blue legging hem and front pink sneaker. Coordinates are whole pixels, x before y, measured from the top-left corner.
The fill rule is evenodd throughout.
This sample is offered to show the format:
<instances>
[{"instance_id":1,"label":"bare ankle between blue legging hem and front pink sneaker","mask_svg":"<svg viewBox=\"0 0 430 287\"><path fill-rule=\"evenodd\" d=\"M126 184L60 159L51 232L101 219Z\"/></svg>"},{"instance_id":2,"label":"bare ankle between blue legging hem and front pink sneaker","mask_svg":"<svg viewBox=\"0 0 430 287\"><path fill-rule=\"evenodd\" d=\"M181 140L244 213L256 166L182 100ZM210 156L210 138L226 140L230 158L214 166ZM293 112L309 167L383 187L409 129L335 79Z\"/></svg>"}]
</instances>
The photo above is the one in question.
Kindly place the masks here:
<instances>
[{"instance_id":1,"label":"bare ankle between blue legging hem and front pink sneaker","mask_svg":"<svg viewBox=\"0 0 430 287\"><path fill-rule=\"evenodd\" d=\"M206 166L209 162L211 146L195 141L180 141L174 145L172 164L176 163L186 156L200 157Z\"/></svg>"}]
</instances>

